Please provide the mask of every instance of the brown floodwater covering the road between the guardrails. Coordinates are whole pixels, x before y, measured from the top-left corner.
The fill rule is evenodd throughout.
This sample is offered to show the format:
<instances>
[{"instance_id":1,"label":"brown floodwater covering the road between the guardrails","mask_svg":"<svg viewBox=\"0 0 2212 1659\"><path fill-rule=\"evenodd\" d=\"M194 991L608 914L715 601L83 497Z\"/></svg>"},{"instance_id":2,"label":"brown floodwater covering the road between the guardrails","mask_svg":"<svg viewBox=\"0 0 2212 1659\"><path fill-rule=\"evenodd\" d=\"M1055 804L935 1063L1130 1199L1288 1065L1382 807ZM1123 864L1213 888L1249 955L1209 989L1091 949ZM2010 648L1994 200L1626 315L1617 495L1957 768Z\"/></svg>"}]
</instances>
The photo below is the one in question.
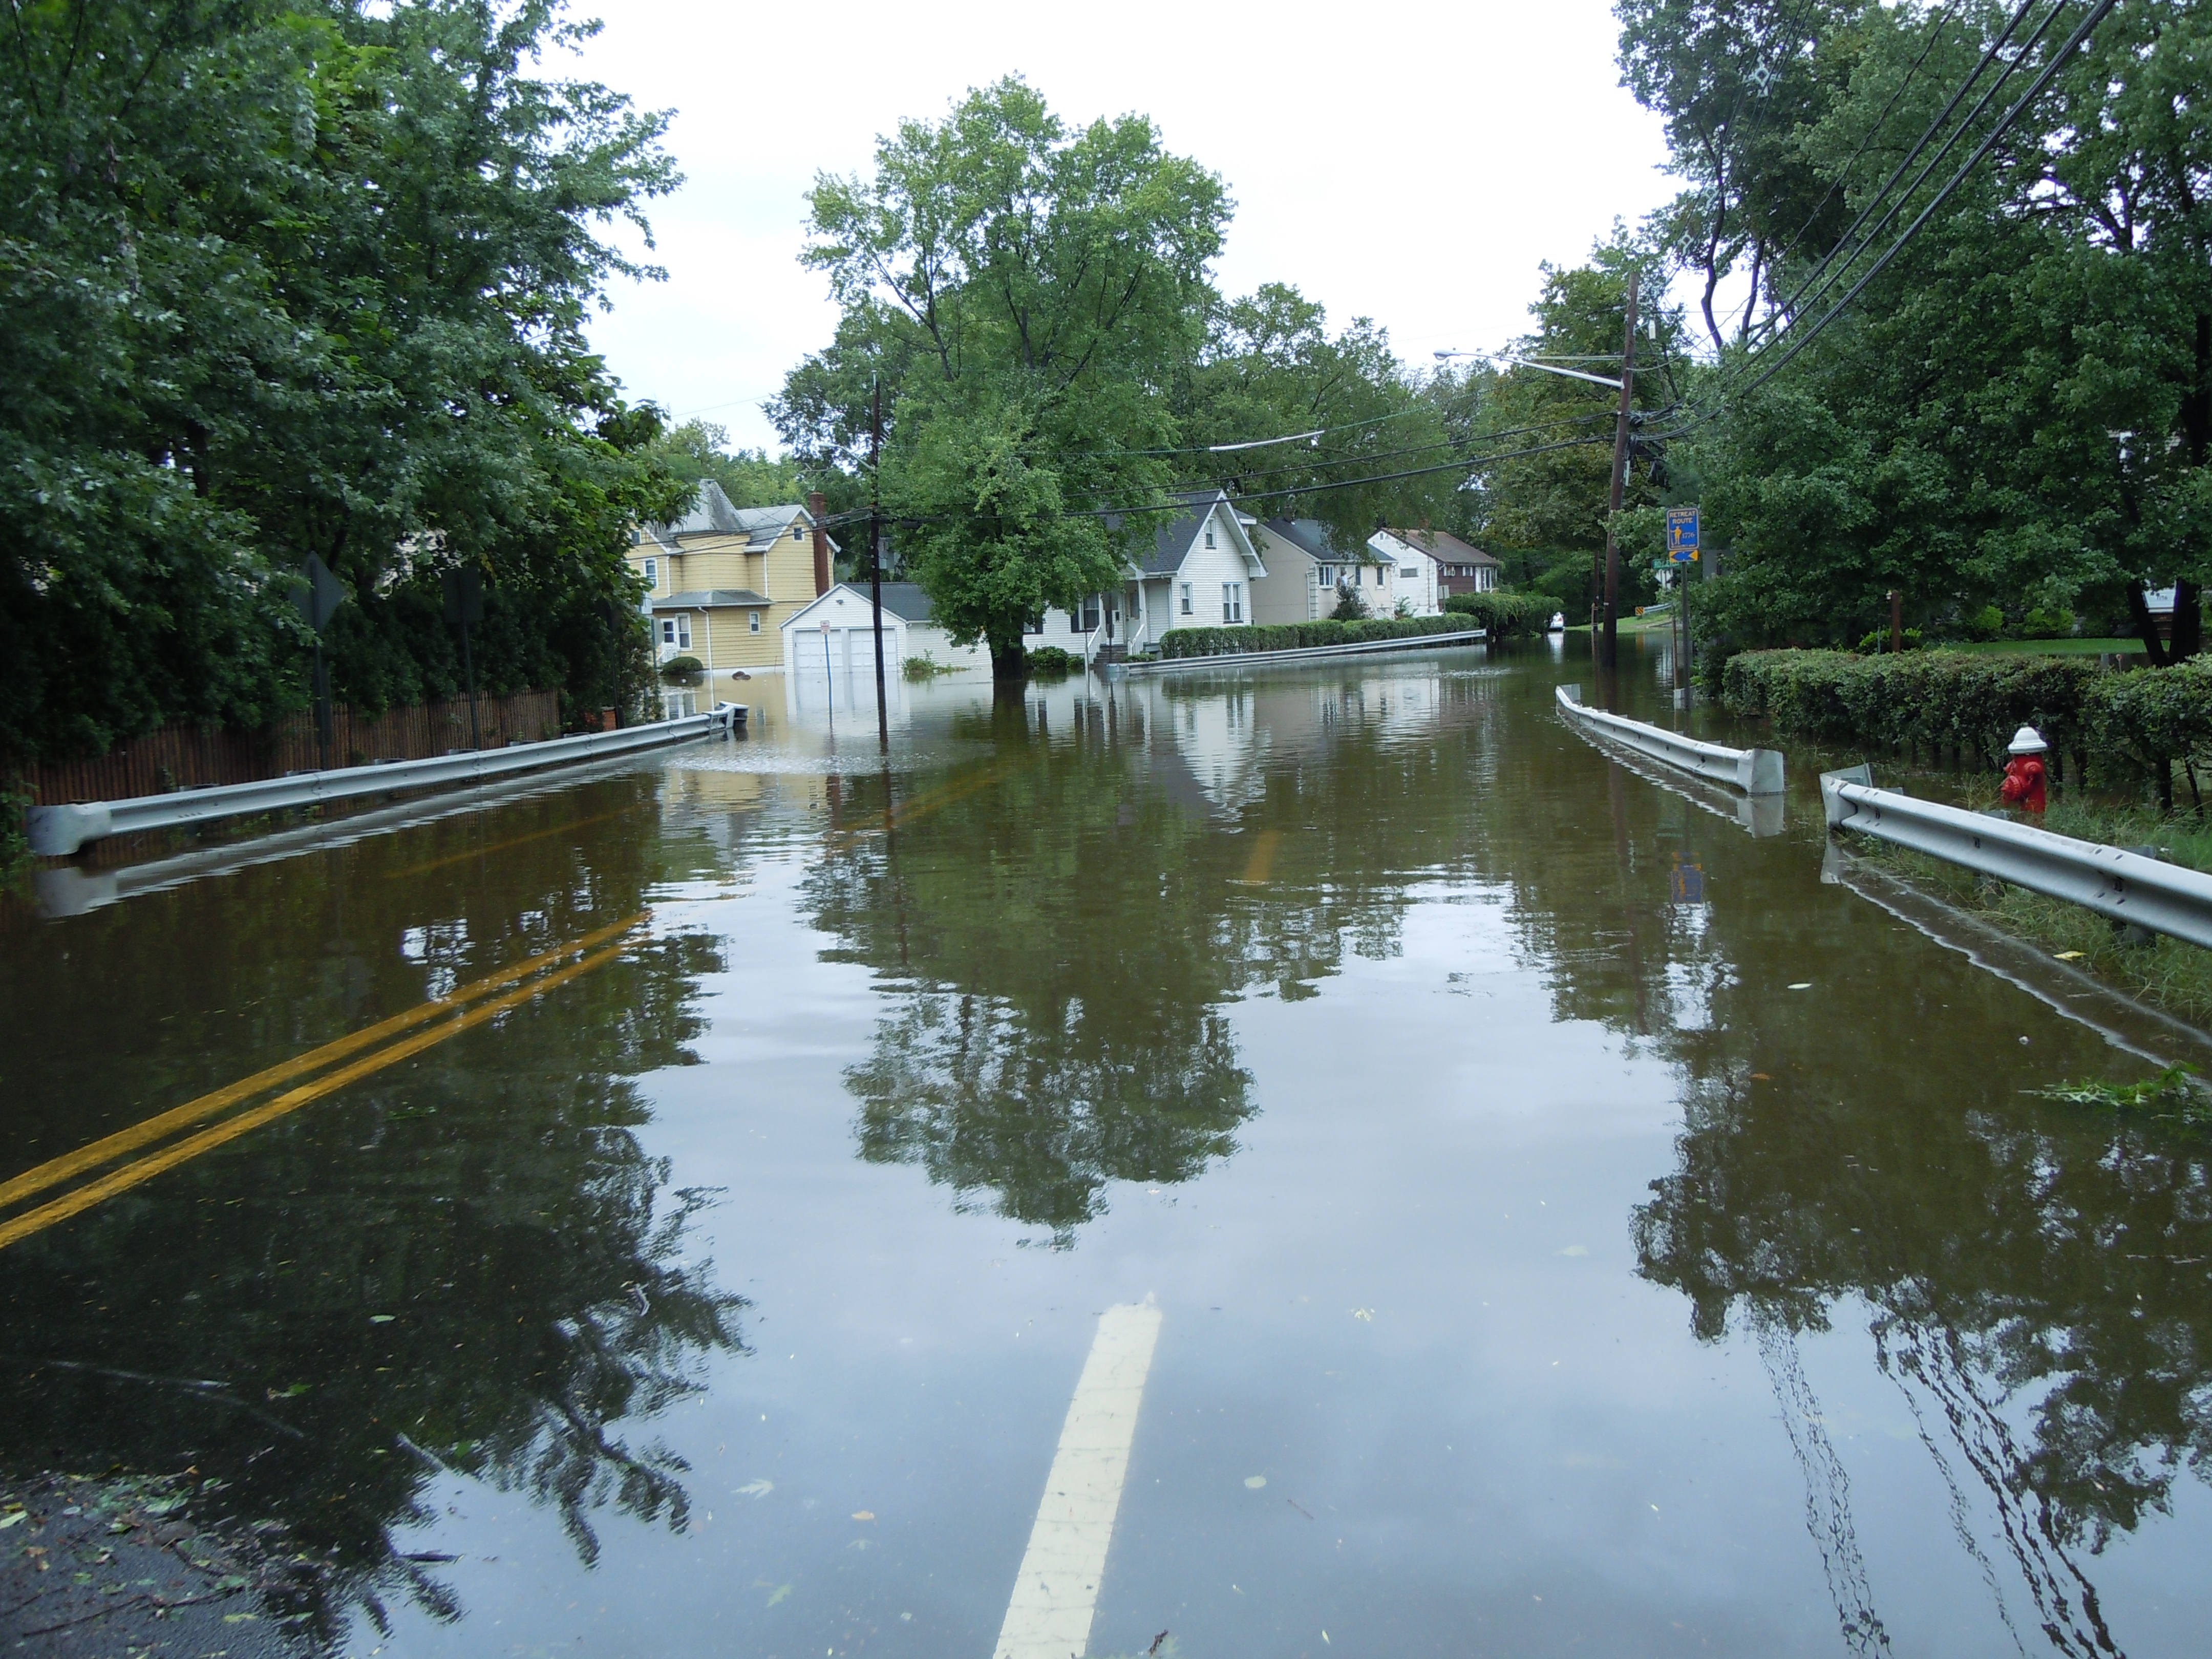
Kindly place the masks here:
<instances>
[{"instance_id":1,"label":"brown floodwater covering the road between the guardrails","mask_svg":"<svg viewBox=\"0 0 2212 1659\"><path fill-rule=\"evenodd\" d=\"M987 1659L1148 1303L1093 1655L2203 1652L2208 1141L2024 1093L2174 1033L1559 650L894 684L887 757L761 681L13 905L0 1469L228 1482L332 1652Z\"/></svg>"}]
</instances>

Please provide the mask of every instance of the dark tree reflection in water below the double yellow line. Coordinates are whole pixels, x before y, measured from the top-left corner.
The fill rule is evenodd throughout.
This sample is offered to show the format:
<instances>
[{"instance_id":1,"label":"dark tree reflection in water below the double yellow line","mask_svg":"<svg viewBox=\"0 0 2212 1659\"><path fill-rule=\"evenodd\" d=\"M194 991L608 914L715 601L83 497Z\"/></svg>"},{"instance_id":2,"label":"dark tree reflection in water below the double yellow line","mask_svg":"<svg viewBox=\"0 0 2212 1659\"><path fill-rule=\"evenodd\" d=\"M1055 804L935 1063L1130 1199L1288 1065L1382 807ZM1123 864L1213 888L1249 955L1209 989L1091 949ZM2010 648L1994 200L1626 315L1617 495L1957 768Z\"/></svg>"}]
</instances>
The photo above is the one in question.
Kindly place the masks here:
<instances>
[{"instance_id":1,"label":"dark tree reflection in water below the double yellow line","mask_svg":"<svg viewBox=\"0 0 2212 1659\"><path fill-rule=\"evenodd\" d=\"M487 964L529 942L476 938ZM458 1615L392 1537L442 1469L553 1506L586 1562L597 1509L681 1528L681 1460L619 1425L743 1352L745 1303L684 1259L708 1199L668 1190L622 1073L686 1060L717 967L641 945L4 1252L0 1458L221 1478L330 1557L299 1608L323 1635L394 1593Z\"/></svg>"}]
</instances>

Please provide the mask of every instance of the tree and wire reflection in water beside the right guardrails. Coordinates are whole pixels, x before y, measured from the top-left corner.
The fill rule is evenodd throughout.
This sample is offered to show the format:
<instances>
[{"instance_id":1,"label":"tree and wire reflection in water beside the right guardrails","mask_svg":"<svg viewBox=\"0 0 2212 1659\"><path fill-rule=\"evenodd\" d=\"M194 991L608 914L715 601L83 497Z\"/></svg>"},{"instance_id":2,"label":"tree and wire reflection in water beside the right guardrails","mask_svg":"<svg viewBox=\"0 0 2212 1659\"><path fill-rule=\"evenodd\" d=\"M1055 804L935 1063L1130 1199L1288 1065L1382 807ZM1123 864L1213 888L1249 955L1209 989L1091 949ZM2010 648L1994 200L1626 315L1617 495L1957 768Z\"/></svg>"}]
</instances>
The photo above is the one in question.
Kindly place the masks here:
<instances>
[{"instance_id":1,"label":"tree and wire reflection in water beside the right guardrails","mask_svg":"<svg viewBox=\"0 0 2212 1659\"><path fill-rule=\"evenodd\" d=\"M1641 1270L1688 1296L1699 1338L1730 1323L1756 1338L1845 1646L1882 1652L1887 1635L1796 1343L1860 1298L2006 1628L2117 1652L2090 1557L2168 1513L2183 1469L2212 1469L2205 1144L2024 1099L2017 991L1931 962L1840 889L1778 885L1759 847L1668 790L1608 779L1548 799L1575 821L1522 818L1486 863L1513 883L1557 1015L1650 1044L1686 1082L1674 1168L1635 1214ZM1668 902L1690 858L1717 902ZM1816 971L1807 929L1849 971ZM1816 995L1774 995L1805 978ZM1909 1040L1924 1029L1960 1035Z\"/></svg>"}]
</instances>

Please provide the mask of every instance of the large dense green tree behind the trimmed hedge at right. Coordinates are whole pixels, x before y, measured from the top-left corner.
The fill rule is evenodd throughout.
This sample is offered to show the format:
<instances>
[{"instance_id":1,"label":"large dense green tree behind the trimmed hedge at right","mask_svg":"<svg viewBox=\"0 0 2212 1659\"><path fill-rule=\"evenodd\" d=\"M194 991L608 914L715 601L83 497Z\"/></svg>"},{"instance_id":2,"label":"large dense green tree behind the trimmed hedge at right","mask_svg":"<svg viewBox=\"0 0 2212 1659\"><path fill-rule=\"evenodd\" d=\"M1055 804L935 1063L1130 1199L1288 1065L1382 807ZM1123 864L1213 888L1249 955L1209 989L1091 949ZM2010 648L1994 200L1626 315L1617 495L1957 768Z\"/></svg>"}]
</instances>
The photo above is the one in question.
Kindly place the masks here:
<instances>
[{"instance_id":1,"label":"large dense green tree behind the trimmed hedge at right","mask_svg":"<svg viewBox=\"0 0 2212 1659\"><path fill-rule=\"evenodd\" d=\"M1632 38L1672 13L1621 15ZM2059 60L2088 2L2015 15L1836 13L1805 60L1794 161L1747 188L1787 219L1803 164L1820 212L1840 204L1849 221L1770 259L1759 325L1690 376L1670 456L1703 480L1708 535L1730 549L1705 606L1723 646L1847 644L1887 622L1896 588L1938 635L2073 608L2159 659L2143 588L2168 584L2172 653L2199 646L2212 133L2197 91L2212 24L2192 0L2146 0ZM1663 58L1666 40L1630 38L1630 60Z\"/></svg>"}]
</instances>

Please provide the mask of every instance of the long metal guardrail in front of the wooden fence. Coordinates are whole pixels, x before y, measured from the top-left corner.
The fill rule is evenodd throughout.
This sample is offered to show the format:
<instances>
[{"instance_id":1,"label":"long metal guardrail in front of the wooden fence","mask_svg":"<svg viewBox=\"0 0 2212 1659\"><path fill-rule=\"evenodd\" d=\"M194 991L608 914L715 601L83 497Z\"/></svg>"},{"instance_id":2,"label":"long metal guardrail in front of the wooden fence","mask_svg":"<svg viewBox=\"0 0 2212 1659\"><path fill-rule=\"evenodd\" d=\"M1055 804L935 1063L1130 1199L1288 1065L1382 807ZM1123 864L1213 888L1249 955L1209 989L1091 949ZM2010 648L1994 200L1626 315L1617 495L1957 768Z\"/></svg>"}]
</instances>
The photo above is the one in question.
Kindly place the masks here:
<instances>
[{"instance_id":1,"label":"long metal guardrail in front of the wooden fence","mask_svg":"<svg viewBox=\"0 0 2212 1659\"><path fill-rule=\"evenodd\" d=\"M664 743L688 743L710 732L728 732L743 719L743 703L723 703L710 714L686 714L684 719L630 726L619 732L555 737L549 743L467 750L465 754L440 754L429 761L294 772L288 779L223 783L212 790L177 790L175 794L142 794L131 801L77 801L71 805L31 807L24 827L31 838L31 852L49 858L66 858L84 847L84 843L104 841L106 836L128 836L142 830L177 830L254 812L283 812L325 801L349 801L363 794L482 783L509 772L533 772L544 765L573 765L577 761L602 761L608 754L626 754Z\"/></svg>"}]
</instances>

